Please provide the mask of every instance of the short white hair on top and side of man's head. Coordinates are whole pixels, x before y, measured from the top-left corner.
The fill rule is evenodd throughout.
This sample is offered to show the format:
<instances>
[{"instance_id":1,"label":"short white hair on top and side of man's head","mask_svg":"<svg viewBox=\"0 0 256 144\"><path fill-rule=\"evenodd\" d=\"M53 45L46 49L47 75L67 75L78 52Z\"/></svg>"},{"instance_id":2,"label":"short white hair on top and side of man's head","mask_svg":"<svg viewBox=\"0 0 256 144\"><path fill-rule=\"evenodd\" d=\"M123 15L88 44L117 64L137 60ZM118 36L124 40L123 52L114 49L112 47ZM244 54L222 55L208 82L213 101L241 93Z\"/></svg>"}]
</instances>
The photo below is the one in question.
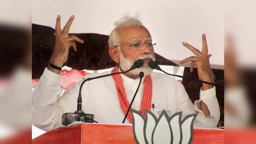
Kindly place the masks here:
<instances>
[{"instance_id":1,"label":"short white hair on top and side of man's head","mask_svg":"<svg viewBox=\"0 0 256 144\"><path fill-rule=\"evenodd\" d=\"M126 14L120 20L114 22L115 28L111 31L110 36L108 38L108 46L114 47L120 45L120 39L116 31L122 27L128 26L143 26L141 20L136 16L130 16Z\"/></svg>"}]
</instances>

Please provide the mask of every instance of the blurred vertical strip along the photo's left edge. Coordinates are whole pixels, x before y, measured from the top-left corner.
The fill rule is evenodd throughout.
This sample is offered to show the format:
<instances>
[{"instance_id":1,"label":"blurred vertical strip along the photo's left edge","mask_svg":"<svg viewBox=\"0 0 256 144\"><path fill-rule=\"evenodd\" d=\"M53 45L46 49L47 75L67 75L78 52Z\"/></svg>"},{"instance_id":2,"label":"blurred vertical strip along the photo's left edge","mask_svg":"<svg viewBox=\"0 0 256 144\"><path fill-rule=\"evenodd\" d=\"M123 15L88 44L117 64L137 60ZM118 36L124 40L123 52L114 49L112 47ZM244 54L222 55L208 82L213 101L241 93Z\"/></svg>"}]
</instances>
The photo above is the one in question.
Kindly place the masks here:
<instances>
[{"instance_id":1,"label":"blurred vertical strip along the photo's left edge","mask_svg":"<svg viewBox=\"0 0 256 144\"><path fill-rule=\"evenodd\" d=\"M0 143L31 139L31 1L0 5Z\"/></svg>"}]
</instances>

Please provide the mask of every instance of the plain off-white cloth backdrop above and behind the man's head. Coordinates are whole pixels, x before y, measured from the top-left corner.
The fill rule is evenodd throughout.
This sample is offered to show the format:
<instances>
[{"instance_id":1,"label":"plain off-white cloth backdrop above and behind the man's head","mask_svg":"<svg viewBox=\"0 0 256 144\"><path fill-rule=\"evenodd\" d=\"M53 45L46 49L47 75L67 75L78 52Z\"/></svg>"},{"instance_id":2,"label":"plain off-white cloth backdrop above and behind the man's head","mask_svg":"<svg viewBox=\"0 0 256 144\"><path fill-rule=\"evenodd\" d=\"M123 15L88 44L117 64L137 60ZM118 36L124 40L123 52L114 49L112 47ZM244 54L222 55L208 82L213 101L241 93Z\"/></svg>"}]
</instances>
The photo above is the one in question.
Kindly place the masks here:
<instances>
[{"instance_id":1,"label":"plain off-white cloth backdrop above and behind the man's head","mask_svg":"<svg viewBox=\"0 0 256 144\"><path fill-rule=\"evenodd\" d=\"M71 15L70 33L109 35L113 22L127 12L139 13L142 23L157 42L155 52L169 60L182 60L193 53L182 41L201 50L201 34L207 36L211 64L224 65L224 2L222 0L34 0L32 23L62 27Z\"/></svg>"}]
</instances>

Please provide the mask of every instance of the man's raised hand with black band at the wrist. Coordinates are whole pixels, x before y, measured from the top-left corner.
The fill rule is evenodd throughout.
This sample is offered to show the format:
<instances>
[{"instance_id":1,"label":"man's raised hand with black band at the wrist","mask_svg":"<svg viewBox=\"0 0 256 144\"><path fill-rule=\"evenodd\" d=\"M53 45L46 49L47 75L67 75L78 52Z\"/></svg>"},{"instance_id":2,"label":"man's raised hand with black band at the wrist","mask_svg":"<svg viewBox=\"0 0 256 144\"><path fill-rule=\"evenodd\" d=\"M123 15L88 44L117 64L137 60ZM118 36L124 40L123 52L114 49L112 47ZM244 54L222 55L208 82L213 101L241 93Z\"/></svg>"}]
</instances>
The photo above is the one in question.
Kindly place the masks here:
<instances>
[{"instance_id":1,"label":"man's raised hand with black band at the wrist","mask_svg":"<svg viewBox=\"0 0 256 144\"><path fill-rule=\"evenodd\" d=\"M84 43L84 41L78 38L75 35L68 35L70 26L74 20L74 15L70 17L63 30L60 28L60 15L57 16L55 30L54 33L56 37L55 49L52 55L51 63L56 65L57 67L62 67L63 64L67 61L68 58L68 50L70 47L73 47L74 51L77 51L77 46L75 45L75 41L79 43ZM48 68L50 71L60 74L60 71L53 69L51 67Z\"/></svg>"}]
</instances>

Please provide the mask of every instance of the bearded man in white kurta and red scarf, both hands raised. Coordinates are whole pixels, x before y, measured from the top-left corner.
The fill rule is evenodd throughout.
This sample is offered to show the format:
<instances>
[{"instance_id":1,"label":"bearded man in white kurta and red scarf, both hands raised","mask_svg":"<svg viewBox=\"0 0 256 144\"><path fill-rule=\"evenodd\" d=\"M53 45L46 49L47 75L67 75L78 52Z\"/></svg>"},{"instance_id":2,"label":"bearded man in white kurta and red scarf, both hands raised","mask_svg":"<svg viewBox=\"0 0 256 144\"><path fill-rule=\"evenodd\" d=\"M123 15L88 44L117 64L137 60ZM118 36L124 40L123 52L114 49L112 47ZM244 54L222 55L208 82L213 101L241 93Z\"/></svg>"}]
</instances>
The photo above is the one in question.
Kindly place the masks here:
<instances>
[{"instance_id":1,"label":"bearded man in white kurta and red scarf, both hands raised","mask_svg":"<svg viewBox=\"0 0 256 144\"><path fill-rule=\"evenodd\" d=\"M77 108L78 92L82 80L62 94L61 76L58 70L58 67L62 67L67 61L69 48L77 51L75 42L84 43L78 37L68 35L73 20L74 16L71 16L62 30L60 16L57 16L56 44L51 65L45 68L38 86L33 91L32 122L33 125L43 130L63 126L61 124L62 114L73 112ZM203 49L201 52L185 42L182 43L196 57L186 58L181 63L191 61L190 71L193 71L193 67L196 66L200 80L213 82L209 64L211 55L208 54L205 34L202 38ZM145 75L142 79L143 83L138 90L132 109L138 110L142 114L144 114L144 109L151 110L157 117L163 109L170 115L183 111L182 117L198 113L194 127L216 128L220 112L215 87L203 84L200 99L193 105L181 83L168 75L152 72L148 62L155 60L155 43L140 20L126 15L115 22L115 29L110 34L108 44L109 54L118 65L110 72L93 73L86 75L84 79L111 72L127 71L138 59L142 59L144 65L125 74L86 82L82 88L82 111L94 114L94 120L99 123L121 123L140 81L138 75L143 71ZM155 106L154 111L152 104ZM126 123L131 122L129 114Z\"/></svg>"}]
</instances>

